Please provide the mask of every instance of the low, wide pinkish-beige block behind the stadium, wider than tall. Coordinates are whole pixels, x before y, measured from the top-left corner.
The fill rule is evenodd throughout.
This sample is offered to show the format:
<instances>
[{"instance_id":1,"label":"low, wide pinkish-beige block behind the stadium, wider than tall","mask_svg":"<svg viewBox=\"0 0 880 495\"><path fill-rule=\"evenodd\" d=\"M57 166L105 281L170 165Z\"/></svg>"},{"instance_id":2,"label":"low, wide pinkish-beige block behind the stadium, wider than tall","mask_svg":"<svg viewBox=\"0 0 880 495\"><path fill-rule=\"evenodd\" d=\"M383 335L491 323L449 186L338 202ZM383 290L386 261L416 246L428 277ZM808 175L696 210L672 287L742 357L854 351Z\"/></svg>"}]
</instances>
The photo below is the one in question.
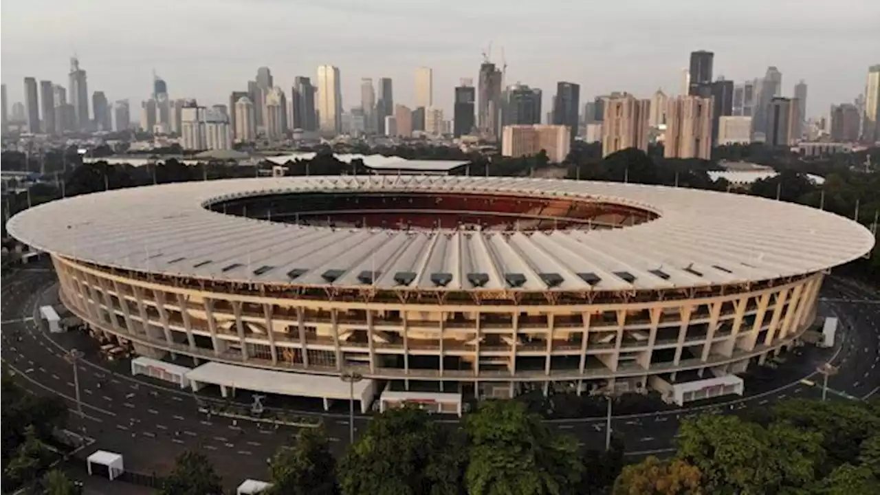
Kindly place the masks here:
<instances>
[{"instance_id":1,"label":"low, wide pinkish-beige block behind the stadium, wider than tall","mask_svg":"<svg viewBox=\"0 0 880 495\"><path fill-rule=\"evenodd\" d=\"M560 163L571 151L571 129L565 125L506 125L502 132L502 156L529 157L546 151L547 158Z\"/></svg>"}]
</instances>

